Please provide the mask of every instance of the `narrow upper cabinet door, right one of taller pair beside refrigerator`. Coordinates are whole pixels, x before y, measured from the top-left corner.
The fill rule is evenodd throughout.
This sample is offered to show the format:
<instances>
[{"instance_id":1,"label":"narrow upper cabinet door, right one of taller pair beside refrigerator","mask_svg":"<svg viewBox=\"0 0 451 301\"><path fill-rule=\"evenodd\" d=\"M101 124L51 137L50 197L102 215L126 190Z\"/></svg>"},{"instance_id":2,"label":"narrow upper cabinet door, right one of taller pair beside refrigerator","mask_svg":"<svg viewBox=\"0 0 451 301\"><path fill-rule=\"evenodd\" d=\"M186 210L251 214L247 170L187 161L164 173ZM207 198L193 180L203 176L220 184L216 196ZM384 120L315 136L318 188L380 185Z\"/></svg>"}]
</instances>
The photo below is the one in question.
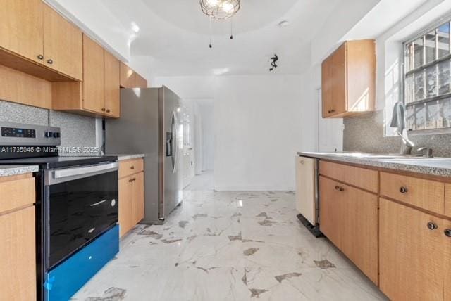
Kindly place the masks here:
<instances>
[{"instance_id":1,"label":"narrow upper cabinet door, right one of taller pair beside refrigerator","mask_svg":"<svg viewBox=\"0 0 451 301\"><path fill-rule=\"evenodd\" d=\"M120 63L105 51L105 108L106 114L119 117L121 110Z\"/></svg>"}]
</instances>

